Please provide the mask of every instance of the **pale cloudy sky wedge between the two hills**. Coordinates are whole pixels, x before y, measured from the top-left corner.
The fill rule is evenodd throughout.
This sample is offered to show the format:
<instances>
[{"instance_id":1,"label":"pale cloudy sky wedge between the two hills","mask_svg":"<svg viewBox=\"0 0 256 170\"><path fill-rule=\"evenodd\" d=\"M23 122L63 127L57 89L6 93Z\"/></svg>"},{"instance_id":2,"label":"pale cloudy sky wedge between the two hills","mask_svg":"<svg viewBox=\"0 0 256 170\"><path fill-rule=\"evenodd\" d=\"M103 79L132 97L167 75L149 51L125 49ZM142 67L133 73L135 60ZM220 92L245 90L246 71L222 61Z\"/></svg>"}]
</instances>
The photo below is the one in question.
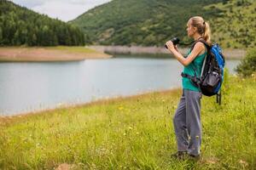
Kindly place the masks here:
<instances>
[{"instance_id":1,"label":"pale cloudy sky wedge between the two hills","mask_svg":"<svg viewBox=\"0 0 256 170\"><path fill-rule=\"evenodd\" d=\"M40 14L51 18L68 21L73 20L90 8L111 0L11 0Z\"/></svg>"}]
</instances>

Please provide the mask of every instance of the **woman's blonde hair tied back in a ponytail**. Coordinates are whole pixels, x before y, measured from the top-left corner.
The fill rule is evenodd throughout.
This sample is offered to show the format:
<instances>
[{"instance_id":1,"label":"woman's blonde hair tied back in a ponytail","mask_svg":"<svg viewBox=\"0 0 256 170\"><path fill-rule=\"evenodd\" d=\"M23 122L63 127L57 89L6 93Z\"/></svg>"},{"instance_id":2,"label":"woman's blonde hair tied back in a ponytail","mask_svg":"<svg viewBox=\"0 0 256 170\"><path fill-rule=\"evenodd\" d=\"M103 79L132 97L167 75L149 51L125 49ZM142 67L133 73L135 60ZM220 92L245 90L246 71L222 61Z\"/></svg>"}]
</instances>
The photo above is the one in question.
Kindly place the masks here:
<instances>
[{"instance_id":1,"label":"woman's blonde hair tied back in a ponytail","mask_svg":"<svg viewBox=\"0 0 256 170\"><path fill-rule=\"evenodd\" d=\"M201 16L194 16L191 19L191 25L197 28L199 34L202 35L204 40L210 45L211 42L211 29L209 23L203 20Z\"/></svg>"}]
</instances>

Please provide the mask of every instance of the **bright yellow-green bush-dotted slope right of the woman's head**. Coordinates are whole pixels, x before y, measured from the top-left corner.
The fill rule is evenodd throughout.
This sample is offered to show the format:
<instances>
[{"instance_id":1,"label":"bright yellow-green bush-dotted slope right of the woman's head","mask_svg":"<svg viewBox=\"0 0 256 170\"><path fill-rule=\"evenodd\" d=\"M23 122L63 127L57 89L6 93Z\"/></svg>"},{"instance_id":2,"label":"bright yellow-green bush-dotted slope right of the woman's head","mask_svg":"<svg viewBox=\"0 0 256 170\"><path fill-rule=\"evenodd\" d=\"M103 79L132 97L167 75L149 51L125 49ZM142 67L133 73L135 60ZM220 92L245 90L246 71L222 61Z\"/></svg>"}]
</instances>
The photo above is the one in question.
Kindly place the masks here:
<instances>
[{"instance_id":1,"label":"bright yellow-green bush-dotted slope right of the woman's head","mask_svg":"<svg viewBox=\"0 0 256 170\"><path fill-rule=\"evenodd\" d=\"M212 37L223 48L253 48L256 45L256 1L232 0L207 6L222 11L213 17Z\"/></svg>"}]
</instances>

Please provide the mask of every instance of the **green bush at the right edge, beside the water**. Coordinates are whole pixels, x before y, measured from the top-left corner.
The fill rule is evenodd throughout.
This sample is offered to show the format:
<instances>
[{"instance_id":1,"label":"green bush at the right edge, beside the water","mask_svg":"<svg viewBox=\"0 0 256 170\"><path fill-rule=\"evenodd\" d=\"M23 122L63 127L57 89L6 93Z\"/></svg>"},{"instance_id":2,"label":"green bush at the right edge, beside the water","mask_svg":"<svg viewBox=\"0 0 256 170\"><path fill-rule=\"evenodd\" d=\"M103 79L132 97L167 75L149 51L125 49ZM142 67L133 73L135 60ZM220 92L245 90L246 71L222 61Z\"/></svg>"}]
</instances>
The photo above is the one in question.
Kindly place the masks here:
<instances>
[{"instance_id":1,"label":"green bush at the right edge, beside the water","mask_svg":"<svg viewBox=\"0 0 256 170\"><path fill-rule=\"evenodd\" d=\"M243 77L251 77L256 73L256 48L247 50L246 57L237 65L236 71Z\"/></svg>"}]
</instances>

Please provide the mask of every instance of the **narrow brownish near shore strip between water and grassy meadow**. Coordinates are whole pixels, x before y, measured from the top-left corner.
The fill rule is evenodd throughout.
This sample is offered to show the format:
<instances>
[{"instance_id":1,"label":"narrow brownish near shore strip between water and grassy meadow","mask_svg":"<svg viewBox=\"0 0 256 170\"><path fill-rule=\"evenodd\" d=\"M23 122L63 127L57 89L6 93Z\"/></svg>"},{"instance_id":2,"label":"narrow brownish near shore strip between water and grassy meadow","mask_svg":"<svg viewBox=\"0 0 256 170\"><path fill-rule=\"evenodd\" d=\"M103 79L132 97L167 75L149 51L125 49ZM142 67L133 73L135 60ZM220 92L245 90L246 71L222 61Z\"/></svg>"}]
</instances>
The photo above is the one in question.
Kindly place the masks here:
<instances>
[{"instance_id":1,"label":"narrow brownish near shore strip between water and grassy meadow","mask_svg":"<svg viewBox=\"0 0 256 170\"><path fill-rule=\"evenodd\" d=\"M53 108L49 108L45 110L43 109L38 111L28 111L24 113L16 113L16 114L11 114L6 116L0 116L0 125L1 125L1 122L5 120L12 120L12 119L21 118L24 116L38 116L38 115L42 115L52 111L59 111L62 109L73 109L73 108L80 108L80 107L90 106L90 105L102 105L102 104L117 102L119 100L147 97L148 95L152 95L152 94L172 94L172 93L178 93L179 91L181 92L181 88L170 88L165 90L149 91L149 92L144 92L139 94L131 94L131 95L124 95L124 96L119 95L119 96L113 96L109 98L107 97L107 98L92 100L92 101L81 103L81 104L73 104L73 105L67 104L67 105L61 105L61 106L55 105Z\"/></svg>"}]
</instances>

